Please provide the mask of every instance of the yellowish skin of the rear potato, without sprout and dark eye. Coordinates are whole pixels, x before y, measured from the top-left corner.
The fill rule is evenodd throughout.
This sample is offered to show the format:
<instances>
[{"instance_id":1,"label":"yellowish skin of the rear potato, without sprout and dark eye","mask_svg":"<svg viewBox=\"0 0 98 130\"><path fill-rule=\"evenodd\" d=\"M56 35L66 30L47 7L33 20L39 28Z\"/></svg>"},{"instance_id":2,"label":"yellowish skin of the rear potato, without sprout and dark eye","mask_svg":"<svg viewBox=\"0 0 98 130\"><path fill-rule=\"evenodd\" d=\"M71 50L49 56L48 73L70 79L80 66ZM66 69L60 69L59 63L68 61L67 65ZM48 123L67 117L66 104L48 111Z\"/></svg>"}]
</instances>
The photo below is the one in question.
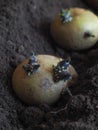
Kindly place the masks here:
<instances>
[{"instance_id":1,"label":"yellowish skin of the rear potato, without sprout and dark eye","mask_svg":"<svg viewBox=\"0 0 98 130\"><path fill-rule=\"evenodd\" d=\"M62 23L57 14L51 23L51 34L56 43L68 50L84 50L98 41L98 17L89 10L70 8L72 21ZM94 37L85 37L91 32Z\"/></svg>"}]
</instances>

